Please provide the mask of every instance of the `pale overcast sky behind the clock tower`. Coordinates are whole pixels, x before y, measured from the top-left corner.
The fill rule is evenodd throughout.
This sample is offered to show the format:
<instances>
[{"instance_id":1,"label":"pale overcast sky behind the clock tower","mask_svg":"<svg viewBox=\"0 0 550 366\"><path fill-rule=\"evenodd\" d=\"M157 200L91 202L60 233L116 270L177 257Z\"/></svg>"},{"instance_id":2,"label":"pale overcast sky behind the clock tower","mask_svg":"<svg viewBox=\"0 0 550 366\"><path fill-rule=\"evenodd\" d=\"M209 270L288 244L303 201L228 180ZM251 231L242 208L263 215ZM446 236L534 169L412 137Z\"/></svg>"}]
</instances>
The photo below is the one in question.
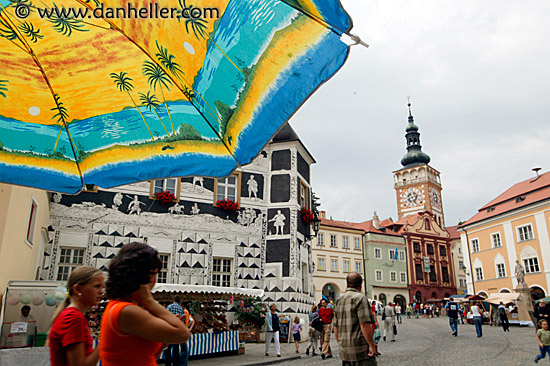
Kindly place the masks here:
<instances>
[{"instance_id":1,"label":"pale overcast sky behind the clock tower","mask_svg":"<svg viewBox=\"0 0 550 366\"><path fill-rule=\"evenodd\" d=\"M347 63L291 123L317 163L335 220L397 219L392 172L406 153L407 96L441 172L447 226L550 170L550 1L342 0Z\"/></svg>"}]
</instances>

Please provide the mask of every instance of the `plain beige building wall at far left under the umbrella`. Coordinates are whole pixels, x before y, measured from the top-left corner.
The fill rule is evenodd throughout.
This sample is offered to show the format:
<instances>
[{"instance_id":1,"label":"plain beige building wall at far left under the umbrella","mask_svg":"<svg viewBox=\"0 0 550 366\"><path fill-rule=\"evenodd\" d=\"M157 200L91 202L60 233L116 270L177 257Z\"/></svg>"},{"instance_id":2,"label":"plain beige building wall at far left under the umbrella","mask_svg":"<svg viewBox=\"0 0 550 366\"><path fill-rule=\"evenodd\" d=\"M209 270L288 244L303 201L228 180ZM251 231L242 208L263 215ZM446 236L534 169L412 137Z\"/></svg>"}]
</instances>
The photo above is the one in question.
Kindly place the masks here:
<instances>
[{"instance_id":1,"label":"plain beige building wall at far left under the umbrella","mask_svg":"<svg viewBox=\"0 0 550 366\"><path fill-rule=\"evenodd\" d=\"M46 191L0 184L0 294L11 280L38 279L47 243Z\"/></svg>"}]
</instances>

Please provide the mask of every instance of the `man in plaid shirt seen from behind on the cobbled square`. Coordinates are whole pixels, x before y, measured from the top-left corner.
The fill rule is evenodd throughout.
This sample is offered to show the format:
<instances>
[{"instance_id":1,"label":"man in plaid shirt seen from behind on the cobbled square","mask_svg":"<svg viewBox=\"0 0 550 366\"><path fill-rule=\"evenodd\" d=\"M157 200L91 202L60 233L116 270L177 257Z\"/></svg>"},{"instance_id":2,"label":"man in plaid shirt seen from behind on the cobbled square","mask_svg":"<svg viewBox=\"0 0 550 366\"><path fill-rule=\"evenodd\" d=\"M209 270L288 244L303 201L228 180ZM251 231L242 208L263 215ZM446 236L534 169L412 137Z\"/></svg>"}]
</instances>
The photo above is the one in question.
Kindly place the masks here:
<instances>
[{"instance_id":1,"label":"man in plaid shirt seen from behind on the cobbled square","mask_svg":"<svg viewBox=\"0 0 550 366\"><path fill-rule=\"evenodd\" d=\"M376 366L376 346L372 339L374 316L366 296L361 293L363 278L352 272L347 289L336 303L334 336L340 346L343 366Z\"/></svg>"}]
</instances>

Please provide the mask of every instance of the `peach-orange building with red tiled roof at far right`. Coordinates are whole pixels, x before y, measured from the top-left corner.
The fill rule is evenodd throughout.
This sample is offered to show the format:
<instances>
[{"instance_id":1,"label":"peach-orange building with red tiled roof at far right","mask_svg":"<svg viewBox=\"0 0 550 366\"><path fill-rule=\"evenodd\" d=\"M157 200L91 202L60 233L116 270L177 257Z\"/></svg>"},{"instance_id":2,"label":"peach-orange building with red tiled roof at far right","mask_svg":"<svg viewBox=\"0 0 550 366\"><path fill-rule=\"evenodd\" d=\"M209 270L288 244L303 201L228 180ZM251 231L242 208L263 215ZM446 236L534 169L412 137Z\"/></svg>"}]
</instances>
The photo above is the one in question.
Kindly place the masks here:
<instances>
[{"instance_id":1,"label":"peach-orange building with red tiled roof at far right","mask_svg":"<svg viewBox=\"0 0 550 366\"><path fill-rule=\"evenodd\" d=\"M537 172L538 173L538 172ZM459 226L468 292L513 292L516 261L533 298L550 288L550 172L519 182Z\"/></svg>"}]
</instances>

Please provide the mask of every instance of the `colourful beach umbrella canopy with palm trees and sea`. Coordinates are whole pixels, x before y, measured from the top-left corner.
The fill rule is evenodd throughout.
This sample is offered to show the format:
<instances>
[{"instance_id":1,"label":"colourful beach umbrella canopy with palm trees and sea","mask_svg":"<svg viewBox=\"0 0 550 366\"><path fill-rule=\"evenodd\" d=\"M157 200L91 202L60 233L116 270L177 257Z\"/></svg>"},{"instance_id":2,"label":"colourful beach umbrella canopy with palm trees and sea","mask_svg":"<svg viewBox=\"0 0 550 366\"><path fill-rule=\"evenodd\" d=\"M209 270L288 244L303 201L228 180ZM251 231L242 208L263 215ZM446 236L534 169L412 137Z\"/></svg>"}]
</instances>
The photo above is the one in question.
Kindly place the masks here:
<instances>
[{"instance_id":1,"label":"colourful beach umbrella canopy with palm trees and sea","mask_svg":"<svg viewBox=\"0 0 550 366\"><path fill-rule=\"evenodd\" d=\"M0 181L64 193L226 176L349 52L338 0L0 4Z\"/></svg>"}]
</instances>

